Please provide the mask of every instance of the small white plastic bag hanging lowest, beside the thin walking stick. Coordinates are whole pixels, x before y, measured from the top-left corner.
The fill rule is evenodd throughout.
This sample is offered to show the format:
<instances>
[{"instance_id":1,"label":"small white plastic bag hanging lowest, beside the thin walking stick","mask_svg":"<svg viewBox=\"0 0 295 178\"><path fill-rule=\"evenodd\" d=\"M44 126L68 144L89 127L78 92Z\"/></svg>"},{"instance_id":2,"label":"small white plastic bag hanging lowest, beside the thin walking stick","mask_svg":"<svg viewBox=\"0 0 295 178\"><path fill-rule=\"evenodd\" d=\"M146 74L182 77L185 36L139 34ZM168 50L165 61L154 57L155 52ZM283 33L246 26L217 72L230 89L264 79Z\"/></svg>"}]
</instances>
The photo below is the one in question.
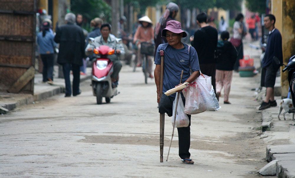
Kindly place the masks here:
<instances>
[{"instance_id":1,"label":"small white plastic bag hanging lowest, beside the thin walking stick","mask_svg":"<svg viewBox=\"0 0 295 178\"><path fill-rule=\"evenodd\" d=\"M175 109L176 109L176 101L178 92L176 93L176 97L173 102L173 115L172 115L172 126L174 124L174 115L175 115ZM184 106L181 99L181 96L179 96L178 104L177 104L177 112L176 112L176 120L175 120L175 127L187 127L189 126L189 117L184 113Z\"/></svg>"}]
</instances>

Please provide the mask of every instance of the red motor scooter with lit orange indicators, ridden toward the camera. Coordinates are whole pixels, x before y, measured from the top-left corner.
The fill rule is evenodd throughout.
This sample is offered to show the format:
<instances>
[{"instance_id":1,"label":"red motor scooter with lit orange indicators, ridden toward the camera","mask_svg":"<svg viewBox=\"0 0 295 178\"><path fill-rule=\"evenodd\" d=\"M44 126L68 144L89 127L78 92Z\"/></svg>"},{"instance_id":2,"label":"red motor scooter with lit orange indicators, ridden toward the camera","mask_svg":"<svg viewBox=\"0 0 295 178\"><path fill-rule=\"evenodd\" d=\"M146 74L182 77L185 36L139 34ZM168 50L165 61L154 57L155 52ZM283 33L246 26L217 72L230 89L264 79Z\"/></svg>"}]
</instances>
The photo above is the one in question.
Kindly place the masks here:
<instances>
[{"instance_id":1,"label":"red motor scooter with lit orange indicators, ridden toward the camera","mask_svg":"<svg viewBox=\"0 0 295 178\"><path fill-rule=\"evenodd\" d=\"M94 40L89 38L90 40ZM96 96L96 103L101 104L102 98L106 98L106 103L111 102L111 98L119 94L117 87L112 87L111 75L113 74L113 62L107 58L108 55L115 54L116 49L101 45L94 48L93 53L99 55L92 65L91 86L93 95Z\"/></svg>"}]
</instances>

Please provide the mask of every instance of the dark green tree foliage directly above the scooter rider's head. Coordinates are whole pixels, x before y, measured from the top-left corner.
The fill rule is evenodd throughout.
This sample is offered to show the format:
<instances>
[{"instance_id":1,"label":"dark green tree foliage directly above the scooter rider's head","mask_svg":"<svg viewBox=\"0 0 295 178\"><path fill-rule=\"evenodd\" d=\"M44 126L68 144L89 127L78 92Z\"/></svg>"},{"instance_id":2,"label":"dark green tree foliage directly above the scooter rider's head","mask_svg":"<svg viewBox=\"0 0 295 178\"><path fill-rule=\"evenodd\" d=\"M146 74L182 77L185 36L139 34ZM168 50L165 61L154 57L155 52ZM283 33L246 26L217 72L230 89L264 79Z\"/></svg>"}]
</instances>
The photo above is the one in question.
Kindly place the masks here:
<instances>
[{"instance_id":1,"label":"dark green tree foliage directly above the scooter rider's head","mask_svg":"<svg viewBox=\"0 0 295 178\"><path fill-rule=\"evenodd\" d=\"M82 14L88 23L95 17L100 17L105 22L111 21L112 10L104 0L71 0L71 11Z\"/></svg>"}]
</instances>

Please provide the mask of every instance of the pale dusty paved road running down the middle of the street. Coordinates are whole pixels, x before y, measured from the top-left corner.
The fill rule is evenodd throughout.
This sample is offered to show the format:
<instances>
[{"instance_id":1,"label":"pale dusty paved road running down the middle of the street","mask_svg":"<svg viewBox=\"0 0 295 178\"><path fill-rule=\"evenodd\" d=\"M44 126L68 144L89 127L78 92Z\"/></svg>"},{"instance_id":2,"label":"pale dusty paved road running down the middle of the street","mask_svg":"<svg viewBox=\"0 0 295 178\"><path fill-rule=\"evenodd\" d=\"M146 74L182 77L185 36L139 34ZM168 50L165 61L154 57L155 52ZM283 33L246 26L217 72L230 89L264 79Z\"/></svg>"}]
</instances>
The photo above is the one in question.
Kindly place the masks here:
<instances>
[{"instance_id":1,"label":"pale dusty paved road running down the middle of the street","mask_svg":"<svg viewBox=\"0 0 295 178\"><path fill-rule=\"evenodd\" d=\"M168 162L160 163L159 115L153 80L124 66L121 94L96 104L90 81L82 94L55 96L0 116L1 177L258 177L265 148L253 101L259 77L234 74L231 105L191 119L191 159L178 157L177 131ZM165 120L164 157L171 138Z\"/></svg>"}]
</instances>

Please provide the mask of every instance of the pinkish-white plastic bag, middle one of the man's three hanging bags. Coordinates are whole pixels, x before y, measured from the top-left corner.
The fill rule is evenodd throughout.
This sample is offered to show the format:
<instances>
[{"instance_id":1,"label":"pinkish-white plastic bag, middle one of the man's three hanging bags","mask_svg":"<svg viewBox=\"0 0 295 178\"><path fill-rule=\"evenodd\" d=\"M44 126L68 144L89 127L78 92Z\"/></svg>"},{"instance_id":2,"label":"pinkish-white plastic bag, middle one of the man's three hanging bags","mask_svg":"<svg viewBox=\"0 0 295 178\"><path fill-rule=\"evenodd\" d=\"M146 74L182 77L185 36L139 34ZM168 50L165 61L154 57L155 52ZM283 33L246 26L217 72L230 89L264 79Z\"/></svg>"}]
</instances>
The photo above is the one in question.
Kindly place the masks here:
<instances>
[{"instance_id":1,"label":"pinkish-white plastic bag, middle one of the man's three hanging bags","mask_svg":"<svg viewBox=\"0 0 295 178\"><path fill-rule=\"evenodd\" d=\"M201 94L201 92L198 92L196 80L183 90L183 95L186 98L184 106L186 114L199 114L207 110L205 102L203 102L204 97Z\"/></svg>"}]
</instances>

